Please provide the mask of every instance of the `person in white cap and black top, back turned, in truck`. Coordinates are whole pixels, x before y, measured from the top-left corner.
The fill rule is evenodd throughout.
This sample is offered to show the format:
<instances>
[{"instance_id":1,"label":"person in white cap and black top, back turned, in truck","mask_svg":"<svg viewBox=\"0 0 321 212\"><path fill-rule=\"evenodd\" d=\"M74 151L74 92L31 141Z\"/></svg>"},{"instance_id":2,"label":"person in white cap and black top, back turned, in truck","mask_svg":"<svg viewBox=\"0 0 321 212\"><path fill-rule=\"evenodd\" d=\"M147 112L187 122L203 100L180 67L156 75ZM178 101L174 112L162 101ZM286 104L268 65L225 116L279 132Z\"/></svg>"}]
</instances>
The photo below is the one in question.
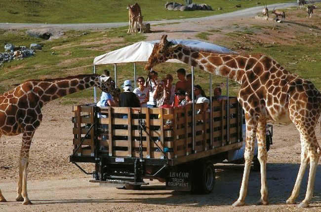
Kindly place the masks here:
<instances>
[{"instance_id":1,"label":"person in white cap and black top, back turned, in truck","mask_svg":"<svg viewBox=\"0 0 321 212\"><path fill-rule=\"evenodd\" d=\"M136 94L131 92L133 88L131 87L131 81L129 79L124 81L122 85L124 92L120 93L119 106L121 107L140 107L139 99Z\"/></svg>"}]
</instances>

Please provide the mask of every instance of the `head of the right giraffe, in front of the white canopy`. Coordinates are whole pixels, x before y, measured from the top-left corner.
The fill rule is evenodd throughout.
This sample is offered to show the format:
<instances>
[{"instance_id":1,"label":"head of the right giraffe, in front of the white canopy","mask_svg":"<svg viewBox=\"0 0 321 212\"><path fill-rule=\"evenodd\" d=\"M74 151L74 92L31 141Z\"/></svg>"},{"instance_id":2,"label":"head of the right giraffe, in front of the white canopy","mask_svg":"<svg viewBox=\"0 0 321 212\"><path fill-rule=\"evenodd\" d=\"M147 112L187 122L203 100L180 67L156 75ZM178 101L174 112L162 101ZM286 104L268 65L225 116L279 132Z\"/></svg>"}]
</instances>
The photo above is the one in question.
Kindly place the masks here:
<instances>
[{"instance_id":1,"label":"head of the right giraffe, in front of the white canopy","mask_svg":"<svg viewBox=\"0 0 321 212\"><path fill-rule=\"evenodd\" d=\"M174 45L166 38L167 35L162 35L160 43L155 43L152 54L149 56L148 63L145 66L145 70L151 70L157 64L171 59L174 49L180 46L180 44Z\"/></svg>"}]
</instances>

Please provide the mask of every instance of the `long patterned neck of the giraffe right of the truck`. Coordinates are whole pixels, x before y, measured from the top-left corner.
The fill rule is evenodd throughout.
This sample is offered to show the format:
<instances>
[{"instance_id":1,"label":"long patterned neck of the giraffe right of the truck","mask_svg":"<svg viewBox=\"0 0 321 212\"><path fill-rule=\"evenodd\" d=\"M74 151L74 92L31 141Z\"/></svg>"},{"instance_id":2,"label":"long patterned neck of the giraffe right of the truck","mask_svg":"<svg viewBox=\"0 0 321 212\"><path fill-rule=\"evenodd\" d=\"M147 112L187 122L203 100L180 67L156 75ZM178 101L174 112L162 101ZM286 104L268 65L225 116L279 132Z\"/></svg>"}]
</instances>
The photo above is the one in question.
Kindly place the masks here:
<instances>
[{"instance_id":1,"label":"long patterned neck of the giraffe right of the truck","mask_svg":"<svg viewBox=\"0 0 321 212\"><path fill-rule=\"evenodd\" d=\"M255 67L263 71L264 67L258 63L260 60L269 60L272 63L272 60L264 55L216 54L183 46L175 49L170 57L209 73L229 77L240 84L245 71L254 71Z\"/></svg>"}]
</instances>

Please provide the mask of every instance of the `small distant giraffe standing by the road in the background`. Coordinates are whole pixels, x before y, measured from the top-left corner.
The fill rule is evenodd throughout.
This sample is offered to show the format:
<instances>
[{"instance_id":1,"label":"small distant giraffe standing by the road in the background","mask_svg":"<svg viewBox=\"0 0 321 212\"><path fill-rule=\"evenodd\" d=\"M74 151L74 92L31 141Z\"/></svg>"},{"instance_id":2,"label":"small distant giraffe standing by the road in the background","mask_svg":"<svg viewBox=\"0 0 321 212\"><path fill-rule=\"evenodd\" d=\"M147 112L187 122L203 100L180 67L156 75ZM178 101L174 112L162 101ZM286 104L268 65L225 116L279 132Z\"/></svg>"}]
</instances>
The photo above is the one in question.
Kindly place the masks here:
<instances>
[{"instance_id":1,"label":"small distant giraffe standing by the road in the background","mask_svg":"<svg viewBox=\"0 0 321 212\"><path fill-rule=\"evenodd\" d=\"M127 33L137 33L137 23L140 26L140 32L144 33L143 16L138 3L128 5L129 26Z\"/></svg>"}]
</instances>

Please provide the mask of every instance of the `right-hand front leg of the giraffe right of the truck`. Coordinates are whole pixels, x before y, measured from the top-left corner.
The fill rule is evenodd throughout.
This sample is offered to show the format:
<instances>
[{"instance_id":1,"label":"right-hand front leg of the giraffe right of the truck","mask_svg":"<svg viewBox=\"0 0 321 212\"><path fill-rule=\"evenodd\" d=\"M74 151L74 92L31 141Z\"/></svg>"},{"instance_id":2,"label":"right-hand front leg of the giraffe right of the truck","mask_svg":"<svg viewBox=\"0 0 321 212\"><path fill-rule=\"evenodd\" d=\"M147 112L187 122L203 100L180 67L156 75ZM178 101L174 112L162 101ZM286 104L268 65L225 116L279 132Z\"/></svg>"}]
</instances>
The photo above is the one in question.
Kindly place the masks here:
<instances>
[{"instance_id":1,"label":"right-hand front leg of the giraffe right of the truck","mask_svg":"<svg viewBox=\"0 0 321 212\"><path fill-rule=\"evenodd\" d=\"M261 199L259 205L269 205L268 201L268 186L266 179L266 162L268 153L266 150L266 121L258 122L257 126L257 146L258 146L258 160L261 167Z\"/></svg>"}]
</instances>

